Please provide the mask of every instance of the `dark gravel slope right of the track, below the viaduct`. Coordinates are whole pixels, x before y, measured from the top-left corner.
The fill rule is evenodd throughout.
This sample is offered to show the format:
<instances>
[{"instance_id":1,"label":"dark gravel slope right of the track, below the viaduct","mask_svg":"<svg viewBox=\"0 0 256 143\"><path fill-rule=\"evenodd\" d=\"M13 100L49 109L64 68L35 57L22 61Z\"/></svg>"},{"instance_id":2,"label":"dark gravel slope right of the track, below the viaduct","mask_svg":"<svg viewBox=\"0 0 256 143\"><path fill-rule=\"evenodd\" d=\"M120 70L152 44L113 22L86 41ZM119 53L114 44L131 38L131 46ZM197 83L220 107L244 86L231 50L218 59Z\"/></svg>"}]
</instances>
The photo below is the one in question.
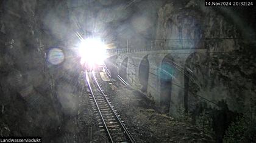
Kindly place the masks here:
<instances>
[{"instance_id":1,"label":"dark gravel slope right of the track, below the viaduct","mask_svg":"<svg viewBox=\"0 0 256 143\"><path fill-rule=\"evenodd\" d=\"M157 113L137 91L116 81L101 84L135 141L213 142L212 136L205 136L194 125Z\"/></svg>"}]
</instances>

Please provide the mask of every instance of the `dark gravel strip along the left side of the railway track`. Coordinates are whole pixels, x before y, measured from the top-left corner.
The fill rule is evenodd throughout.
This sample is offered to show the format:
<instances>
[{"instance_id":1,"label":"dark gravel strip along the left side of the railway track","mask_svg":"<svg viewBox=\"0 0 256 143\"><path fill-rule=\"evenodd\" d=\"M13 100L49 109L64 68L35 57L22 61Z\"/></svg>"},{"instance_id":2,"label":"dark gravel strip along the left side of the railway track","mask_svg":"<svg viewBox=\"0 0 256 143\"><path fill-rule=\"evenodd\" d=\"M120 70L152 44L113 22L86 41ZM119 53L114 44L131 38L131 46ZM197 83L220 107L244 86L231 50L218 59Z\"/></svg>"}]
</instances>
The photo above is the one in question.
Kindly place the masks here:
<instances>
[{"instance_id":1,"label":"dark gravel strip along the left side of the railway track","mask_svg":"<svg viewBox=\"0 0 256 143\"><path fill-rule=\"evenodd\" d=\"M104 131L99 131L99 121L93 113L87 90L85 89L85 77L83 71L79 76L79 91L77 91L77 109L74 116L64 119L60 133L54 142L60 143L84 143L84 142L108 142Z\"/></svg>"}]
</instances>

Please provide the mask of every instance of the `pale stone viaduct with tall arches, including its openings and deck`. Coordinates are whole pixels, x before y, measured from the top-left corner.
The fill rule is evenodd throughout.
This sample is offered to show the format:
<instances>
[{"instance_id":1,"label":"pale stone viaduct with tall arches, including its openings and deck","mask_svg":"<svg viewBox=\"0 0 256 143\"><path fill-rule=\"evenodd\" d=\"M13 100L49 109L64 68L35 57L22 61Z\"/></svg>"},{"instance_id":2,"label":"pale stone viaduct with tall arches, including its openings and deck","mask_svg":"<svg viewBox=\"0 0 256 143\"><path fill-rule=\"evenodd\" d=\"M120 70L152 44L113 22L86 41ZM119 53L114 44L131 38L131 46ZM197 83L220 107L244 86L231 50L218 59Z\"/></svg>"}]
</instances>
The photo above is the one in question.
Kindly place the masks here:
<instances>
[{"instance_id":1,"label":"pale stone viaduct with tall arches, including its openings and deck","mask_svg":"<svg viewBox=\"0 0 256 143\"><path fill-rule=\"evenodd\" d=\"M131 86L154 98L165 113L177 115L187 108L185 95L185 62L193 53L206 49L112 50L107 62L112 73L118 73Z\"/></svg>"}]
</instances>

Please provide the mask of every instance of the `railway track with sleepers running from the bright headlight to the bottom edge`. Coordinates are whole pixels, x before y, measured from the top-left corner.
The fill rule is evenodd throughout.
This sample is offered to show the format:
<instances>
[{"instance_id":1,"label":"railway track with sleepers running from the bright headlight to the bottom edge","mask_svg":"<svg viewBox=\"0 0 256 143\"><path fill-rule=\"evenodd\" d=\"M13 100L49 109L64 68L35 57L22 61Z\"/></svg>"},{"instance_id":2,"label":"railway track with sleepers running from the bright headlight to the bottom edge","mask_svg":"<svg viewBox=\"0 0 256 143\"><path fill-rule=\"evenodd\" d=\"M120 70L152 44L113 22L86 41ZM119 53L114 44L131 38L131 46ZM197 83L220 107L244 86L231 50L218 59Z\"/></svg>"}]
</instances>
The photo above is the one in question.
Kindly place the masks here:
<instances>
[{"instance_id":1,"label":"railway track with sleepers running from the bright headlight to the bottom edge","mask_svg":"<svg viewBox=\"0 0 256 143\"><path fill-rule=\"evenodd\" d=\"M93 107L100 131L107 133L110 142L135 142L111 101L99 85L94 71L85 73L86 89Z\"/></svg>"}]
</instances>

